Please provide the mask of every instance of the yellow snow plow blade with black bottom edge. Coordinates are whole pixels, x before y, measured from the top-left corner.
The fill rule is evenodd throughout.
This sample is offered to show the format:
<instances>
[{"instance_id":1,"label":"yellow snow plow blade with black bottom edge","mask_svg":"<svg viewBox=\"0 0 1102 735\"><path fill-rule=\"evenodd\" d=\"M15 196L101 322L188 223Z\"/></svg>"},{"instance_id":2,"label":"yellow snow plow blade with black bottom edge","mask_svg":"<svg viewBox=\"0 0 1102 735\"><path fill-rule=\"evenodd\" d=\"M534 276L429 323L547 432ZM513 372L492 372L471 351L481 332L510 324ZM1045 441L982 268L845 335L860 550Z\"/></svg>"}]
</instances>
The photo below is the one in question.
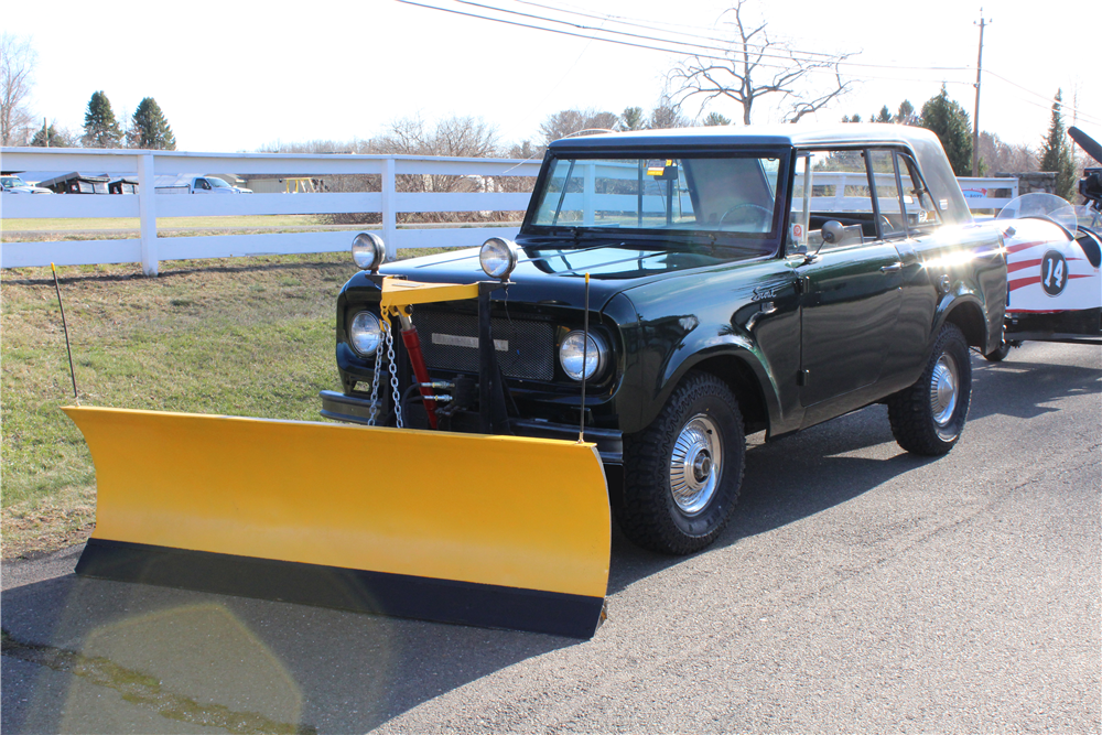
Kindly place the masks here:
<instances>
[{"instance_id":1,"label":"yellow snow plow blade with black bottom edge","mask_svg":"<svg viewBox=\"0 0 1102 735\"><path fill-rule=\"evenodd\" d=\"M66 408L96 465L77 573L587 638L608 581L592 444Z\"/></svg>"}]
</instances>

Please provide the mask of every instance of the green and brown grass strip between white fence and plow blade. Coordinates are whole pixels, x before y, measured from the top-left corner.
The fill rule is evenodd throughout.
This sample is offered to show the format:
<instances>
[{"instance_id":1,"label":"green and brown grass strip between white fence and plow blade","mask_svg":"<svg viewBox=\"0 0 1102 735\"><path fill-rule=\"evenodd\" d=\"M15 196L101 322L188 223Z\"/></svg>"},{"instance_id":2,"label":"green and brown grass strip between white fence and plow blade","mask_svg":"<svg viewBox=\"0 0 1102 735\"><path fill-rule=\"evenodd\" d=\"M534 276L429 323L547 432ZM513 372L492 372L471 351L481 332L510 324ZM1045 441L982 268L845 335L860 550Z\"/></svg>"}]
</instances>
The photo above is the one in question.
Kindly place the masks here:
<instances>
[{"instance_id":1,"label":"green and brown grass strip between white fence and plow blade","mask_svg":"<svg viewBox=\"0 0 1102 735\"><path fill-rule=\"evenodd\" d=\"M399 258L441 250L400 250ZM317 420L338 389L334 314L344 252L58 269L79 402ZM82 541L95 468L61 411L73 402L48 268L0 271L3 556ZM171 447L165 447L171 451Z\"/></svg>"}]
</instances>

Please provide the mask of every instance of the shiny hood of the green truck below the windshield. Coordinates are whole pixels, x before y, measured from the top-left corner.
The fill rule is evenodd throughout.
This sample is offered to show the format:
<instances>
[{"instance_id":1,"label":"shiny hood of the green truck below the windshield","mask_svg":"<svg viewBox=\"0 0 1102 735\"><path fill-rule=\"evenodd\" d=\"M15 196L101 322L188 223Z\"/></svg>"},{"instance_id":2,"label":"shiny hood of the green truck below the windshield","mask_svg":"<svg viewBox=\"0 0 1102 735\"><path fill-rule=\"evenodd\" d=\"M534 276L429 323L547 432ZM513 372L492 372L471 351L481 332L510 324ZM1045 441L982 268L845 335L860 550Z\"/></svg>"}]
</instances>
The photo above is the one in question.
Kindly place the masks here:
<instances>
[{"instance_id":1,"label":"shiny hood of the green truck below the windshield","mask_svg":"<svg viewBox=\"0 0 1102 735\"><path fill-rule=\"evenodd\" d=\"M525 303L583 309L585 273L590 273L590 309L602 311L608 301L631 288L677 277L689 269L731 262L707 249L689 250L656 242L531 240L521 245L512 272L509 299ZM490 280L478 264L478 249L387 263L380 272L430 283L473 283ZM501 292L494 294L500 298Z\"/></svg>"}]
</instances>

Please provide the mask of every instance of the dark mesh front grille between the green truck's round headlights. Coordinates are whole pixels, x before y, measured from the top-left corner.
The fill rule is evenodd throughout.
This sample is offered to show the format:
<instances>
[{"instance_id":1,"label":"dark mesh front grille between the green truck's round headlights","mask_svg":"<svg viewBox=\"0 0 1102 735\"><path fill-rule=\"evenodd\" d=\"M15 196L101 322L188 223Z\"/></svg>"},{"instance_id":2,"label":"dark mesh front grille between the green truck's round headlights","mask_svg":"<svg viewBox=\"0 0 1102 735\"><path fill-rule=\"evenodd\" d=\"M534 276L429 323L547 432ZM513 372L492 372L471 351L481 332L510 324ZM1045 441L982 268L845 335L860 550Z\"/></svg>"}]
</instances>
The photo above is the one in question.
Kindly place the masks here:
<instances>
[{"instance_id":1,"label":"dark mesh front grille between the green truck's round headlights","mask_svg":"<svg viewBox=\"0 0 1102 735\"><path fill-rule=\"evenodd\" d=\"M478 372L478 317L418 307L413 324L430 368ZM554 377L554 327L548 322L490 318L498 365L509 378ZM507 347L507 349L503 349Z\"/></svg>"}]
</instances>

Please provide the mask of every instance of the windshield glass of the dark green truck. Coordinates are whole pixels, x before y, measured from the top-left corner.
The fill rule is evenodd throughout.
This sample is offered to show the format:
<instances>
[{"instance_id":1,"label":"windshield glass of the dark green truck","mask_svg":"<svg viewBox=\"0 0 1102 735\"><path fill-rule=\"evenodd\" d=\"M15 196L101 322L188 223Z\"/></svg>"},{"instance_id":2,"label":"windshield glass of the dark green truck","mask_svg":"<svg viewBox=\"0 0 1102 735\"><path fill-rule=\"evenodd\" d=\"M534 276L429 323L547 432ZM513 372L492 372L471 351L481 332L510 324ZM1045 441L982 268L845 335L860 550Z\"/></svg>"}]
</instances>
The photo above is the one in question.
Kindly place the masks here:
<instances>
[{"instance_id":1,"label":"windshield glass of the dark green truck","mask_svg":"<svg viewBox=\"0 0 1102 735\"><path fill-rule=\"evenodd\" d=\"M529 226L765 240L777 227L780 155L552 159Z\"/></svg>"}]
</instances>

